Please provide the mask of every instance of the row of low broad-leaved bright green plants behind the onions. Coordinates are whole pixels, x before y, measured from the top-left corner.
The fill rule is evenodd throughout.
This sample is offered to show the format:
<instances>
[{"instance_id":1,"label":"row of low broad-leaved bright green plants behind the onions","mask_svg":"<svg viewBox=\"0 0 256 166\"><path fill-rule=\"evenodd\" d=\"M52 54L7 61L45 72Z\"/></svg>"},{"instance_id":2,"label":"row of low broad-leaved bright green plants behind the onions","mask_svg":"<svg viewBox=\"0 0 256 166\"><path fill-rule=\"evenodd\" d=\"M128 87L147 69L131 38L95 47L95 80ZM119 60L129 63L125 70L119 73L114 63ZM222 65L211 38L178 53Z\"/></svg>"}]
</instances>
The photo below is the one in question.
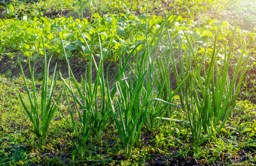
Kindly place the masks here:
<instances>
[{"instance_id":1,"label":"row of low broad-leaved bright green plants behind the onions","mask_svg":"<svg viewBox=\"0 0 256 166\"><path fill-rule=\"evenodd\" d=\"M185 14L186 12L183 13L183 15ZM170 24L174 17L172 15L167 24ZM153 32L159 28L163 21L163 17L149 17L147 20L149 41L152 38ZM16 57L15 54L23 55L24 57L21 56L22 59L28 57L35 60L38 55L42 55L43 48L40 41L41 37L45 37L46 47L54 57L64 58L63 53L60 52L60 39L63 39L68 57L72 55L79 57L80 55L87 59L89 51L86 50L86 46L82 43L82 37L79 36L80 31L77 26L80 26L80 30L86 39L90 40L94 34L99 34L104 48L111 43L111 49L107 53L107 58L111 61L116 61L120 50L125 50L129 53L136 46L136 43L145 40L145 15L136 17L132 14L120 14L104 15L102 17L95 13L91 16L91 22L87 19L82 21L79 19L73 20L72 17L67 19L64 17L55 19L45 17L40 17L39 19L36 17L35 19L23 17L21 20L1 19L1 55L8 55L11 58ZM233 28L227 21L210 20L196 23L188 18L179 16L176 18L174 26L170 28L170 33L174 37L179 36L182 38L184 38L183 31L191 35L193 41L199 46L195 51L202 54L208 35L210 39L213 39L214 29L218 27L221 27L219 39L223 41L230 40ZM234 46L236 51L233 57L238 54L241 47L238 44L241 43L244 37L248 41L247 49L253 50L252 54L255 55L255 33L238 29ZM223 47L223 44L220 43L219 46ZM95 43L95 47L99 50L98 41ZM140 46L138 49L140 48L143 48L143 46ZM208 53L211 53L211 51L209 48ZM223 55L218 56L223 57Z\"/></svg>"}]
</instances>

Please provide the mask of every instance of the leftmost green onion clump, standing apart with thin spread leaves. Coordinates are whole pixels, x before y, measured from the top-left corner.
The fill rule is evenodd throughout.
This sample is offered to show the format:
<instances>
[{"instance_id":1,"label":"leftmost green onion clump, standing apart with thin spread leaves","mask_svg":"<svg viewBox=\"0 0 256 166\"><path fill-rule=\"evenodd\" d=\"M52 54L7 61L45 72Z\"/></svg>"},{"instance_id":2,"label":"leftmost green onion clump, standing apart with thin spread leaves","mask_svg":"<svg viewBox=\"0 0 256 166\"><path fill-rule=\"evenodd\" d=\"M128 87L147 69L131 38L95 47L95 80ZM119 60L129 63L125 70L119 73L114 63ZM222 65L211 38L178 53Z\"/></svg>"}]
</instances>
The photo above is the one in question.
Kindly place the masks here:
<instances>
[{"instance_id":1,"label":"leftmost green onion clump, standing apart with thin spread leaves","mask_svg":"<svg viewBox=\"0 0 256 166\"><path fill-rule=\"evenodd\" d=\"M33 124L34 132L35 135L37 136L37 141L39 146L41 145L46 145L46 135L48 131L48 127L50 125L50 122L54 116L54 113L57 109L57 104L59 104L61 96L62 96L62 91L60 91L60 95L57 98L57 101L55 104L52 104L53 100L53 93L55 90L56 82L57 82L57 75L55 77L55 71L57 64L55 65L55 69L53 72L53 78L51 80L51 85L48 87L48 82L49 82L49 67L50 67L50 62L51 58L47 64L46 62L46 50L44 46L44 40L42 39L42 44L44 48L44 76L42 80L42 94L41 94L41 107L39 108L38 106L38 101L37 101L37 89L35 86L35 79L34 79L34 74L35 74L35 68L33 68L33 71L31 70L30 62L28 62L29 65L29 71L31 75L31 80L32 80L32 88L33 88L33 93L30 93L30 89L28 89L28 84L26 82L26 77L24 75L23 68L21 66L21 62L19 62L20 68L21 68L21 74L24 80L24 84L26 87L26 92L28 95L28 100L30 102L30 108L28 108L24 102L24 98L21 97L21 93L19 92L19 99L21 100L21 104L24 107L28 118L30 118L30 122Z\"/></svg>"}]
</instances>

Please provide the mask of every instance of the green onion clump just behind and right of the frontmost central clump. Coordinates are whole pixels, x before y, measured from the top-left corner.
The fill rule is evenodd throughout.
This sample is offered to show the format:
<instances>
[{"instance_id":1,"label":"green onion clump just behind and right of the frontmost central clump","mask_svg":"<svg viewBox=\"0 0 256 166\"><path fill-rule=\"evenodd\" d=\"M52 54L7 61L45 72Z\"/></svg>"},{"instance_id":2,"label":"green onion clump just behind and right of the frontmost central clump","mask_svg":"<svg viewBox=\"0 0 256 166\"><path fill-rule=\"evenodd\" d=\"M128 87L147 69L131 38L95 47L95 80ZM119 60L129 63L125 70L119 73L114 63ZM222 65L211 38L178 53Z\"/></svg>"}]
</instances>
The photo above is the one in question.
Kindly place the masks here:
<instances>
[{"instance_id":1,"label":"green onion clump just behind and right of the frontmost central clump","mask_svg":"<svg viewBox=\"0 0 256 166\"><path fill-rule=\"evenodd\" d=\"M161 26L154 33L152 40L149 42L147 39L147 55L143 57L143 64L137 65L140 70L141 66L145 66L143 71L148 70L147 80L156 80L156 88L153 89L152 93L154 93L154 100L152 100L152 106L149 107L147 111L147 118L145 120L145 129L147 131L152 132L161 125L165 124L167 121L163 122L163 119L170 120L172 116L171 107L180 108L174 104L171 104L172 98L176 93L181 89L182 85L188 78L189 75L183 77L183 79L179 82L176 89L172 89L172 82L170 79L170 73L172 72L172 68L170 68L170 56L164 55L164 53L159 53L160 46L165 46L168 48L166 44L163 44L163 41L166 40L166 34L168 34L168 30L172 28L176 19L181 15L177 15L174 17L172 21L169 21L171 14L163 21ZM147 20L146 20L146 32L147 32ZM146 33L147 34L147 33ZM168 36L167 36L168 37ZM166 49L168 50L168 49ZM137 63L138 64L138 63ZM152 84L152 83L151 83ZM174 90L174 91L173 91ZM166 116L166 117L164 117Z\"/></svg>"}]
</instances>

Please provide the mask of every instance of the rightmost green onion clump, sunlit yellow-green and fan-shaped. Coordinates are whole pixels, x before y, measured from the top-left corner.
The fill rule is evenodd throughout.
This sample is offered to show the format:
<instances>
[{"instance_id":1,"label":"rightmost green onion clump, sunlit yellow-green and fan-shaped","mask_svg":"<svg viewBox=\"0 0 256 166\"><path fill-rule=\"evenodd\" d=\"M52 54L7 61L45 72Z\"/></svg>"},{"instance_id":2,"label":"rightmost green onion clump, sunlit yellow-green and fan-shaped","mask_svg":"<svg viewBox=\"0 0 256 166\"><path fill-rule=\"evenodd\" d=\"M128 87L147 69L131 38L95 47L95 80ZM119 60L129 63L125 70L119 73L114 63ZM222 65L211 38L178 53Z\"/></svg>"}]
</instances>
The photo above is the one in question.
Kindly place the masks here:
<instances>
[{"instance_id":1,"label":"rightmost green onion clump, sunlit yellow-green and fan-shaped","mask_svg":"<svg viewBox=\"0 0 256 166\"><path fill-rule=\"evenodd\" d=\"M217 50L216 47L218 33L219 30L215 33L214 49L207 70L203 69L204 74L200 75L202 69L200 68L201 64L205 61L205 59L202 59L200 65L195 65L192 80L192 89L196 89L193 98L195 100L196 109L199 111L199 117L202 120L203 130L205 133L214 137L221 131L226 120L235 109L237 96L239 95L249 59L249 56L244 57L246 48L246 44L244 44L234 72L231 73L229 71L232 44L235 38L234 31L229 49L226 48L226 46L224 48L224 62L222 65L219 65L217 63L217 53L219 50ZM192 45L190 44L190 48L191 47ZM195 59L193 52L192 55ZM197 64L197 62L195 62L195 64ZM239 73L241 73L240 76ZM203 84L202 80L205 80L205 84Z\"/></svg>"}]
</instances>

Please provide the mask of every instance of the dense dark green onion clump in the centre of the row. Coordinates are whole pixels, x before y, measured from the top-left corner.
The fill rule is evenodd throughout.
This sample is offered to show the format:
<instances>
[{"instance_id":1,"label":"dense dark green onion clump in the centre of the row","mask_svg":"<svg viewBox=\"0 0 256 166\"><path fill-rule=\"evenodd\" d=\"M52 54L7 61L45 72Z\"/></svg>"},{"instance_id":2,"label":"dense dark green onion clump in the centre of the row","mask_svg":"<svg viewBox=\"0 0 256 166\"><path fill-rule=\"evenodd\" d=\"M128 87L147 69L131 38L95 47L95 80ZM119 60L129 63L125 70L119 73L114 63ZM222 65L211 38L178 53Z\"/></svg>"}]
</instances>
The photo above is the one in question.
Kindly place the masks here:
<instances>
[{"instance_id":1,"label":"dense dark green onion clump in the centre of the row","mask_svg":"<svg viewBox=\"0 0 256 166\"><path fill-rule=\"evenodd\" d=\"M179 16L177 16L179 17ZM176 18L177 18L176 17ZM167 24L167 21L170 17L167 17L161 27L154 34L152 41L149 43L149 40L146 40L147 49L142 53L134 54L136 57L136 62L134 67L129 63L129 58L133 55L134 50L129 53L127 58L125 56L119 57L119 71L118 79L116 84L111 90L111 93L108 93L109 100L111 100L111 107L113 111L113 117L122 140L122 144L125 148L125 156L129 158L131 156L131 150L136 144L137 147L140 147L140 132L147 121L147 128L154 127L156 129L158 122L157 116L161 112L161 107L157 111L153 110L152 104L154 101L164 102L165 104L170 104L164 100L155 98L157 91L154 91L154 86L158 81L158 73L154 73L154 61L152 61L152 54L154 49L157 48L159 44L159 38L163 37L163 32L167 31L167 28L170 28L176 18ZM167 24L167 27L165 27ZM147 21L146 21L146 31L147 31ZM156 40L154 43L153 41ZM151 48L154 44L153 49ZM139 44L138 44L139 45ZM137 46L138 46L137 45ZM137 47L136 46L136 47ZM135 48L134 48L135 49ZM122 60L124 61L122 63ZM129 75L126 76L127 64L130 68ZM154 75L155 74L155 75ZM107 86L108 87L108 86ZM117 104L113 104L113 94L118 93ZM174 105L173 105L174 106ZM118 107L118 111L116 111ZM159 111L160 110L160 111ZM150 114L150 115L148 115ZM150 124L152 123L152 124ZM152 130L152 129L149 129Z\"/></svg>"}]
</instances>

